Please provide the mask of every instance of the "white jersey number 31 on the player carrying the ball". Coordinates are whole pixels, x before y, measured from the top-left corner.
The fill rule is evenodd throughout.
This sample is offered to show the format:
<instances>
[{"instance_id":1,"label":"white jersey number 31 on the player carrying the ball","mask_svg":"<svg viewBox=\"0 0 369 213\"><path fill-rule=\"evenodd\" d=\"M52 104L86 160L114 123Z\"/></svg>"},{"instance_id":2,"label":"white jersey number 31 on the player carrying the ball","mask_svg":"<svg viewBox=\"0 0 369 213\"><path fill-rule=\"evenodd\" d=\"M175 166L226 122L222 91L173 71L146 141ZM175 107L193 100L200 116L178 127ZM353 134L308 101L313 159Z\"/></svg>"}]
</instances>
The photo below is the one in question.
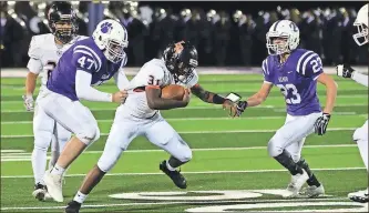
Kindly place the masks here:
<instances>
[{"instance_id":1,"label":"white jersey number 31 on the player carrying the ball","mask_svg":"<svg viewBox=\"0 0 369 213\"><path fill-rule=\"evenodd\" d=\"M146 62L139 73L131 80L129 87L130 95L125 100L125 108L129 108L130 114L136 118L151 118L157 110L152 110L147 105L145 87L164 88L170 84L178 84L185 88L194 87L198 81L198 75L194 70L194 75L187 79L187 83L175 82L173 74L166 69L162 59L153 59Z\"/></svg>"}]
</instances>

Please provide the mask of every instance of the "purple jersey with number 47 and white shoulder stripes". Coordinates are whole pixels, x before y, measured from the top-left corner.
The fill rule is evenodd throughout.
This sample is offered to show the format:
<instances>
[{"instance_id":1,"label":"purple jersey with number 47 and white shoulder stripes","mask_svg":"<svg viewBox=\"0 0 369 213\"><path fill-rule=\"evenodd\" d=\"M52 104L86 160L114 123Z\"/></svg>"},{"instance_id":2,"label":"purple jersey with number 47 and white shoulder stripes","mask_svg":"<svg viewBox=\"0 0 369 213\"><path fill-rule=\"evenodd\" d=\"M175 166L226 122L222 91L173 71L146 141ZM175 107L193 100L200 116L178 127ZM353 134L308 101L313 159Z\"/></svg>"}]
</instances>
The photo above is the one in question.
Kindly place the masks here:
<instances>
[{"instance_id":1,"label":"purple jersey with number 47 and white shoulder stripes","mask_svg":"<svg viewBox=\"0 0 369 213\"><path fill-rule=\"evenodd\" d=\"M100 85L110 80L126 63L126 55L119 63L109 61L92 38L75 42L60 58L48 80L48 89L79 100L75 93L75 73L82 70L92 74L91 85Z\"/></svg>"}]
</instances>

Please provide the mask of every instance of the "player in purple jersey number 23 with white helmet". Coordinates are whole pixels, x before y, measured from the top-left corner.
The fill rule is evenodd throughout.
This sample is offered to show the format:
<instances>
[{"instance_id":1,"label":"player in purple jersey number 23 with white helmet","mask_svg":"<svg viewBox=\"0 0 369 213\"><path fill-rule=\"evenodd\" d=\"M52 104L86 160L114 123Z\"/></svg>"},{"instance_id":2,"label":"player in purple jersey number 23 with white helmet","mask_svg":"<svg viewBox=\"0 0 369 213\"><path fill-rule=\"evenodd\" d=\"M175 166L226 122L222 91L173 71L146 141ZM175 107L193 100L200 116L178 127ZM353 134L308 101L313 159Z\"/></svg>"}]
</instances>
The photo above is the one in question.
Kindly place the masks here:
<instances>
[{"instance_id":1,"label":"player in purple jersey number 23 with white helmet","mask_svg":"<svg viewBox=\"0 0 369 213\"><path fill-rule=\"evenodd\" d=\"M301 158L305 138L316 132L326 133L337 95L336 82L322 71L319 55L314 51L298 49L299 29L293 21L276 21L266 34L269 55L263 61L264 83L257 93L238 102L238 112L262 104L273 85L285 97L287 118L268 142L268 153L291 174L284 197L295 197L307 182L307 195L325 193L324 186ZM326 105L321 112L317 95L317 82L327 90Z\"/></svg>"}]
</instances>

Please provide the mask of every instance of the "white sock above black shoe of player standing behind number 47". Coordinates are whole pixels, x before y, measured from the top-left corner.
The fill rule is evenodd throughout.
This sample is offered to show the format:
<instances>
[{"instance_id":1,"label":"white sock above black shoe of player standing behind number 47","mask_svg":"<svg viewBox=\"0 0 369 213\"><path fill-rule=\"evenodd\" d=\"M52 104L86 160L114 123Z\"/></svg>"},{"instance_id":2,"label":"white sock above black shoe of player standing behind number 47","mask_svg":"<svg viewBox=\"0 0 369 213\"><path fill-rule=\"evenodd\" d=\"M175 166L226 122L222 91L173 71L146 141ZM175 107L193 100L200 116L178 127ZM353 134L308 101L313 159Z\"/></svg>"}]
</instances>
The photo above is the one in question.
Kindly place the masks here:
<instances>
[{"instance_id":1,"label":"white sock above black shoe of player standing behind number 47","mask_svg":"<svg viewBox=\"0 0 369 213\"><path fill-rule=\"evenodd\" d=\"M33 169L33 178L34 183L44 185L43 174L47 168L47 150L41 148L33 148L32 152L32 169Z\"/></svg>"}]
</instances>

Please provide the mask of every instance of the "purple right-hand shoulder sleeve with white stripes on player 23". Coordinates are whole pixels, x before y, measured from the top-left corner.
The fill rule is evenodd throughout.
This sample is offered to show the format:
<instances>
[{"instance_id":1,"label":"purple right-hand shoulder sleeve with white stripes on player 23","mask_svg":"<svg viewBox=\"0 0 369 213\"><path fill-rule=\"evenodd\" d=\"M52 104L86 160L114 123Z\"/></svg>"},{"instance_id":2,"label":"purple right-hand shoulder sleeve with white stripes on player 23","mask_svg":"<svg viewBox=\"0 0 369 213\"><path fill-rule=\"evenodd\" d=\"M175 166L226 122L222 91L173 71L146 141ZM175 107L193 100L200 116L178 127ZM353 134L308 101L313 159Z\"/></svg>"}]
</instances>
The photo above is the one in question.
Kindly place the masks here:
<instances>
[{"instance_id":1,"label":"purple right-hand shoulder sleeve with white stripes on player 23","mask_svg":"<svg viewBox=\"0 0 369 213\"><path fill-rule=\"evenodd\" d=\"M304 77L317 80L322 73L321 59L314 51L307 51L298 59L296 70Z\"/></svg>"}]
</instances>

